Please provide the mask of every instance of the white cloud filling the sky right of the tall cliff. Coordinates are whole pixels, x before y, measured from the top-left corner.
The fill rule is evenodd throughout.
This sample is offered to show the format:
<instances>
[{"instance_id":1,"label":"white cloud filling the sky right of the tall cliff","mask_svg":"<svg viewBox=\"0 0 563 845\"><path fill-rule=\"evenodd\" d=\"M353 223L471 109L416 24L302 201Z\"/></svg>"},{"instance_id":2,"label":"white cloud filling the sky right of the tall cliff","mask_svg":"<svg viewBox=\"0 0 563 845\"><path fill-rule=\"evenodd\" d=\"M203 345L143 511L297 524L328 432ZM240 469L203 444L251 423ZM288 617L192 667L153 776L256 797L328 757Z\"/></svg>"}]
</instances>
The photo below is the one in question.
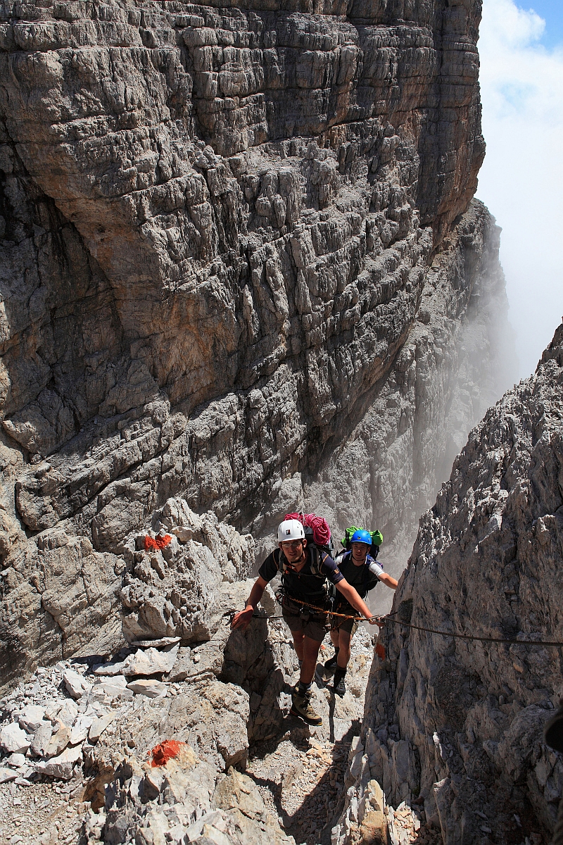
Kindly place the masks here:
<instances>
[{"instance_id":1,"label":"white cloud filling the sky right of the tall cliff","mask_svg":"<svg viewBox=\"0 0 563 845\"><path fill-rule=\"evenodd\" d=\"M520 375L563 314L563 50L538 41L539 15L484 0L480 29L485 164L477 196L503 228L501 262Z\"/></svg>"}]
</instances>

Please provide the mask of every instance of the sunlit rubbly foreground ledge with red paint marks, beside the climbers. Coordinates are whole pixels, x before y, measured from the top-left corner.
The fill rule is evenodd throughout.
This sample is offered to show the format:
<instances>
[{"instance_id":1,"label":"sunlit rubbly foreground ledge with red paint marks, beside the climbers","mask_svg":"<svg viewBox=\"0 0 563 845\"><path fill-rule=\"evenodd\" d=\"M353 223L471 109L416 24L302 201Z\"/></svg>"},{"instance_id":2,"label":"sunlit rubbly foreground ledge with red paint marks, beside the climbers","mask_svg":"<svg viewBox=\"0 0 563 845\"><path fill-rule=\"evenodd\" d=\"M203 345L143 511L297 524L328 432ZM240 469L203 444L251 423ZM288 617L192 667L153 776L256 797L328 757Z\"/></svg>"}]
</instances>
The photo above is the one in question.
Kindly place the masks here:
<instances>
[{"instance_id":1,"label":"sunlit rubbly foreground ledge with red paint marks, beside the climbers","mask_svg":"<svg viewBox=\"0 0 563 845\"><path fill-rule=\"evenodd\" d=\"M160 532L122 551L125 645L37 668L0 702L0 835L29 820L41 845L312 841L343 794L371 637L356 635L344 698L318 685L324 724L309 729L289 714L298 666L270 588L249 628L230 630L251 538L182 500L159 514ZM181 749L170 765L151 756L162 743Z\"/></svg>"}]
</instances>

